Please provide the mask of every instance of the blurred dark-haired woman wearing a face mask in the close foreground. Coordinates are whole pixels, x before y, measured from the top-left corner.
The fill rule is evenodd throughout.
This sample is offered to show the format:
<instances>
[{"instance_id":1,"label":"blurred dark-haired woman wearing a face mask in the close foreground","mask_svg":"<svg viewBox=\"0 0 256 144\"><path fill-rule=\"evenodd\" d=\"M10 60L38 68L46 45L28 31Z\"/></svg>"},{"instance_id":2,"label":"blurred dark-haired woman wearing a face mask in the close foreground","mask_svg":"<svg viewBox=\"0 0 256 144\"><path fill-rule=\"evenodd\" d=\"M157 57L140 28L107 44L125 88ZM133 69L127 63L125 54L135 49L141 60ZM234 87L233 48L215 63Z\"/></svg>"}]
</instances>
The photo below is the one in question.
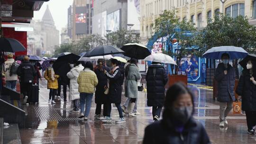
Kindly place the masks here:
<instances>
[{"instance_id":1,"label":"blurred dark-haired woman wearing a face mask in the close foreground","mask_svg":"<svg viewBox=\"0 0 256 144\"><path fill-rule=\"evenodd\" d=\"M145 129L143 144L210 144L209 137L192 115L193 95L183 83L166 93L163 119Z\"/></svg>"}]
</instances>

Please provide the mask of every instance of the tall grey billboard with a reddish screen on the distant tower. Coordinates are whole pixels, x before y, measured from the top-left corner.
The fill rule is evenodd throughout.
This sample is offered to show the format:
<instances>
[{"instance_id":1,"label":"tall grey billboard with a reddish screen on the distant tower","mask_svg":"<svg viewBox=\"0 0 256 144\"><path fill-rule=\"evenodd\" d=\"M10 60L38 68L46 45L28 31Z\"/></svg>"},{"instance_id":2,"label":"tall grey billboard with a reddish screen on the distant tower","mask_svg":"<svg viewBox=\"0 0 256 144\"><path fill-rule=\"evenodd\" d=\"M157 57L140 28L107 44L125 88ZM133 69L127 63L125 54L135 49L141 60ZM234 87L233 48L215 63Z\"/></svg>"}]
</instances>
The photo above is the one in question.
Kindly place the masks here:
<instances>
[{"instance_id":1,"label":"tall grey billboard with a reddish screen on the distant tower","mask_svg":"<svg viewBox=\"0 0 256 144\"><path fill-rule=\"evenodd\" d=\"M86 34L86 7L75 8L75 34Z\"/></svg>"}]
</instances>

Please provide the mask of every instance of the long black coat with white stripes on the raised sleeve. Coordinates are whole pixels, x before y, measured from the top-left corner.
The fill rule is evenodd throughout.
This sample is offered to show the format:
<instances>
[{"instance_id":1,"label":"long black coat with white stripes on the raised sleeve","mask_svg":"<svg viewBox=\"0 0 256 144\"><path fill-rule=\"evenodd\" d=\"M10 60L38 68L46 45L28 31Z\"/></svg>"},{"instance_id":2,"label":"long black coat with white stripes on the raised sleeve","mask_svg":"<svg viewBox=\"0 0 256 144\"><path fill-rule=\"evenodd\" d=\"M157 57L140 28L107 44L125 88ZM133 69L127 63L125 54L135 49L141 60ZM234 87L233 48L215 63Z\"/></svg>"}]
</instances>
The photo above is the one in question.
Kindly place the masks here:
<instances>
[{"instance_id":1,"label":"long black coat with white stripes on the raised sleeve","mask_svg":"<svg viewBox=\"0 0 256 144\"><path fill-rule=\"evenodd\" d=\"M122 85L124 82L124 69L117 68L113 74L107 72L106 75L110 80L108 102L119 104L121 103Z\"/></svg>"}]
</instances>

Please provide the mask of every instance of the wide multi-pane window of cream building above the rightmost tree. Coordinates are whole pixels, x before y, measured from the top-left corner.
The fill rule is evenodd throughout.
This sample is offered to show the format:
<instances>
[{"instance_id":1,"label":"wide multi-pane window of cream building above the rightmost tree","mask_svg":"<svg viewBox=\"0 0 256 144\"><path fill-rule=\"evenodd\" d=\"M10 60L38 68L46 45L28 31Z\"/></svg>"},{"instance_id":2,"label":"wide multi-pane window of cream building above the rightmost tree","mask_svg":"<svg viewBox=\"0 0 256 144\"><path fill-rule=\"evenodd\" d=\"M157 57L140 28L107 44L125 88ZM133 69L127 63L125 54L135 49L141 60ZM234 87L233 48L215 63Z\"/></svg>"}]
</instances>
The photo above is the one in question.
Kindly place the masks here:
<instances>
[{"instance_id":1,"label":"wide multi-pane window of cream building above the rightmost tree","mask_svg":"<svg viewBox=\"0 0 256 144\"><path fill-rule=\"evenodd\" d=\"M244 3L237 3L229 6L226 8L225 11L227 16L232 18L236 18L238 15L245 16L245 4Z\"/></svg>"}]
</instances>

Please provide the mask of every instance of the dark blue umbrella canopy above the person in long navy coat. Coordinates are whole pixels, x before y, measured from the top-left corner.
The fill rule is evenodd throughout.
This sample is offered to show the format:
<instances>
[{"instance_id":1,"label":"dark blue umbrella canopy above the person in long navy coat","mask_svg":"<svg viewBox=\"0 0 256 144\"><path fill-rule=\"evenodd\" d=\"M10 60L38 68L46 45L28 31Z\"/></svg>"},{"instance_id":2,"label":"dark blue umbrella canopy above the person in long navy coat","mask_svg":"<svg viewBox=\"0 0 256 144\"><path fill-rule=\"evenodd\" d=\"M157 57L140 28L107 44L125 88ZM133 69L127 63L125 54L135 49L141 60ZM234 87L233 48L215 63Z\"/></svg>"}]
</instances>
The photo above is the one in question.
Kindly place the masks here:
<instances>
[{"instance_id":1,"label":"dark blue umbrella canopy above the person in long navy coat","mask_svg":"<svg viewBox=\"0 0 256 144\"><path fill-rule=\"evenodd\" d=\"M221 59L221 55L227 53L229 54L230 59L239 59L244 58L248 55L242 47L236 46L219 46L212 47L207 50L202 56L210 59Z\"/></svg>"}]
</instances>

